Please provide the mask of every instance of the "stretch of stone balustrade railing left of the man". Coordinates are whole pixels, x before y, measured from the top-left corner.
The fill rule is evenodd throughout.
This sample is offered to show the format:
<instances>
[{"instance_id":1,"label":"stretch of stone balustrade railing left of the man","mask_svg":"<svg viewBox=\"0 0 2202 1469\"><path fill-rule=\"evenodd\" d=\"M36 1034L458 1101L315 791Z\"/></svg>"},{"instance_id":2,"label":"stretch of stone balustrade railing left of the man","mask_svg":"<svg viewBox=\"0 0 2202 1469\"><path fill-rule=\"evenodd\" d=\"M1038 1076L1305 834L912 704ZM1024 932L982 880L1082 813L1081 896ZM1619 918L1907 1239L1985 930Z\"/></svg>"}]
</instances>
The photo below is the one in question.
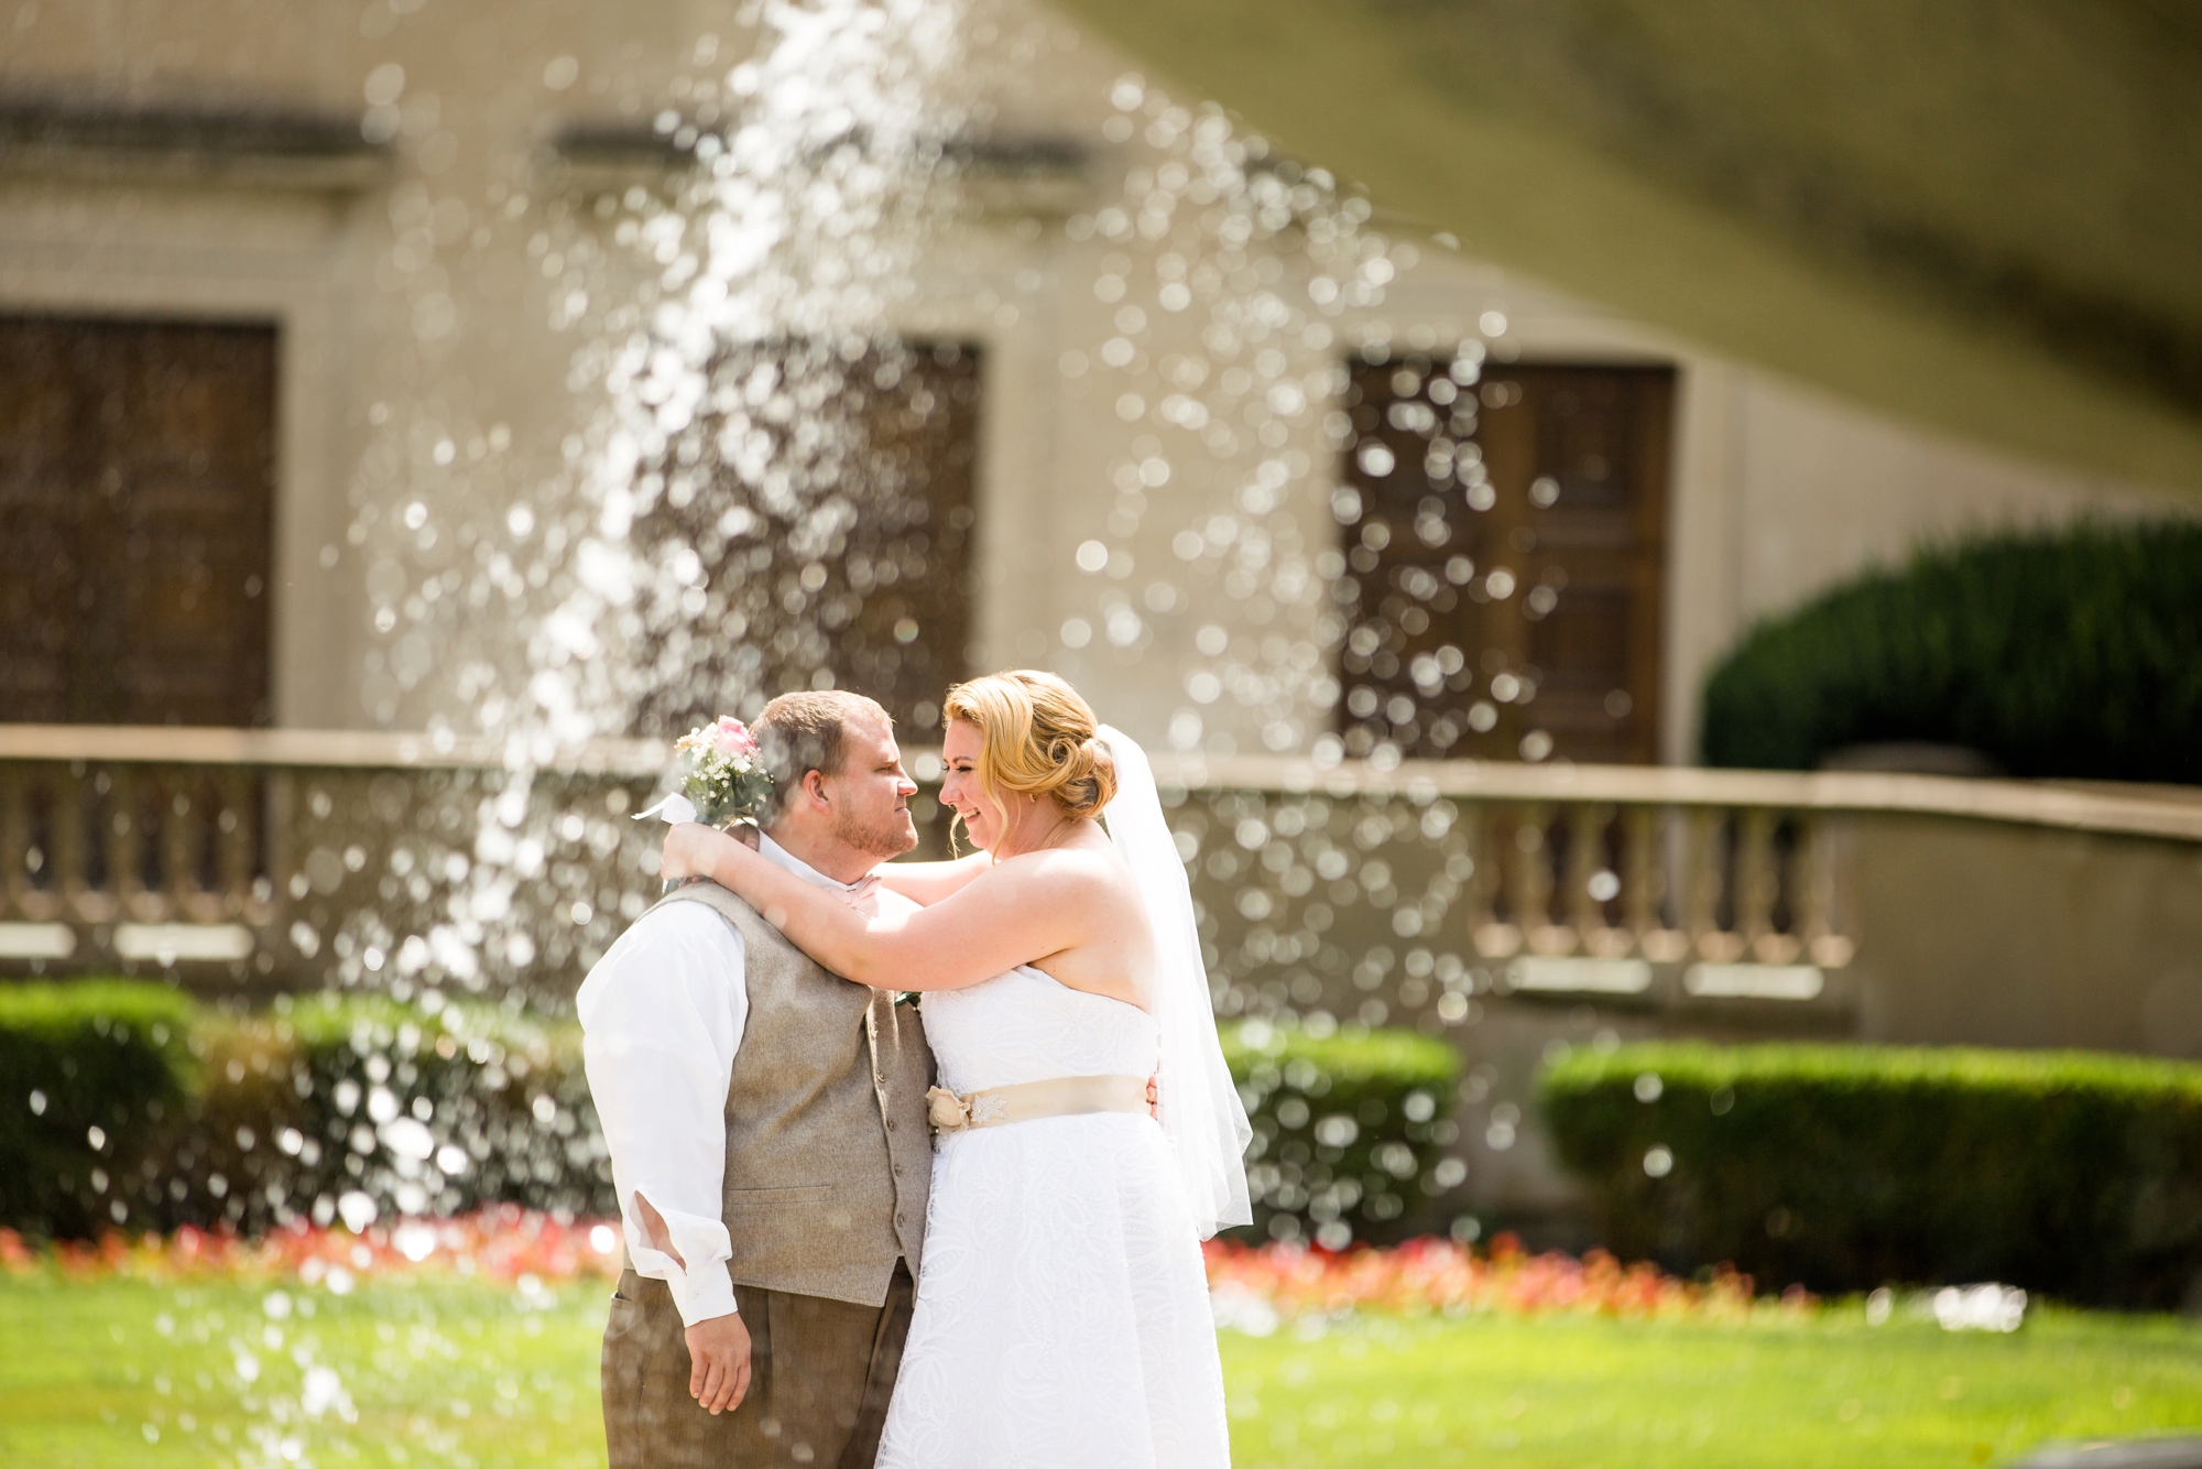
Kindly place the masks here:
<instances>
[{"instance_id":1,"label":"stretch of stone balustrade railing left of the man","mask_svg":"<svg viewBox=\"0 0 2202 1469\"><path fill-rule=\"evenodd\" d=\"M396 929L449 916L484 841L480 806L498 799L509 819L493 833L546 835L524 877L566 868L535 903L500 894L506 916L557 910L562 929L603 929L641 912L647 877L617 857L647 844L614 819L663 760L650 740L531 753L432 736L0 725L0 962L220 965L291 982L328 960L379 962L403 945ZM559 863L557 848L581 861ZM606 881L621 885L610 903ZM579 907L590 921L577 925ZM520 947L570 958L566 938Z\"/></svg>"}]
</instances>

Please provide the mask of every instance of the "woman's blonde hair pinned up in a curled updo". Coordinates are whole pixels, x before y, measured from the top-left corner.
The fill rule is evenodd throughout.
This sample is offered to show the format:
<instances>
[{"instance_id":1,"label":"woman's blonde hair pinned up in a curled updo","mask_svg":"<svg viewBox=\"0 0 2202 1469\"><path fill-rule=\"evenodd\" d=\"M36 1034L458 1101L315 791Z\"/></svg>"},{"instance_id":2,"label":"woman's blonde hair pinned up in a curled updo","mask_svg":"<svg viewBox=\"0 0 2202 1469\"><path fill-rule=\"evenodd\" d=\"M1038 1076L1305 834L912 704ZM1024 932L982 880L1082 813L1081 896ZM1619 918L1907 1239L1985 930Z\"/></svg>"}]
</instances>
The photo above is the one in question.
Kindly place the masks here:
<instances>
[{"instance_id":1,"label":"woman's blonde hair pinned up in a curled updo","mask_svg":"<svg viewBox=\"0 0 2202 1469\"><path fill-rule=\"evenodd\" d=\"M978 784L995 802L1046 795L1066 815L1090 817L1116 795L1094 711L1055 674L1020 667L958 683L940 718L978 729Z\"/></svg>"}]
</instances>

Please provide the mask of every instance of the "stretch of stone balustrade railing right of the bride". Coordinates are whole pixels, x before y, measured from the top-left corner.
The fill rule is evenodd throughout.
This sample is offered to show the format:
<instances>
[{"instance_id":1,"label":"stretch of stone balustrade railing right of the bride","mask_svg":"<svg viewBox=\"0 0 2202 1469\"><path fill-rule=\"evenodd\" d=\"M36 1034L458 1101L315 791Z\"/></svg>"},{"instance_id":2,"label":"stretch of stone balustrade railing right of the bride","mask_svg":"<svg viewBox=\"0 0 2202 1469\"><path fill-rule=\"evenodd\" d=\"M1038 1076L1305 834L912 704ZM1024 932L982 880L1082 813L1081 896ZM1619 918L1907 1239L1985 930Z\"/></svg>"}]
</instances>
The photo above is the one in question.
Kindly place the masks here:
<instances>
[{"instance_id":1,"label":"stretch of stone balustrade railing right of the bride","mask_svg":"<svg viewBox=\"0 0 2202 1469\"><path fill-rule=\"evenodd\" d=\"M1158 760L1158 775L1187 799L1180 846L1213 852L1249 830L1249 850L1279 837L1288 848L1216 868L1196 850L1211 910L1231 907L1233 888L1244 899L1246 883L1262 885L1255 932L1268 925L1284 949L1306 949L1288 934L1326 934L1339 918L1319 883L1295 874L1323 852L1381 850L1376 892L1352 892L1356 859L1330 863L1343 899L1389 910L1389 934L1363 921L1356 943L1442 951L1456 973L1480 962L1500 991L1817 998L1821 971L1858 947L1845 872L1856 817L2202 844L2202 797L2134 786L1489 762L1321 769L1260 755ZM1275 819L1284 810L1295 815ZM1251 978L1264 956L1216 945L1218 962ZM1427 989L1411 978L1409 993Z\"/></svg>"}]
</instances>

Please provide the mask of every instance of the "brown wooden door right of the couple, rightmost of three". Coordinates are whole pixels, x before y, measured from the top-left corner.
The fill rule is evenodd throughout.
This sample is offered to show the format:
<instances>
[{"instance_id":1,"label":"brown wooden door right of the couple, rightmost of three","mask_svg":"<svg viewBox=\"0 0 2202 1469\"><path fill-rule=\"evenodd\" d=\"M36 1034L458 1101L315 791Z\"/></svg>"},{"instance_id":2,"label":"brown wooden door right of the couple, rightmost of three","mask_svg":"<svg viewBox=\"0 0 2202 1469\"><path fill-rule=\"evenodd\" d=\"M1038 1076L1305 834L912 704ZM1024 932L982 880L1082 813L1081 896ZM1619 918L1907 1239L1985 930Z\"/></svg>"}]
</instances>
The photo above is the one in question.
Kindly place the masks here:
<instances>
[{"instance_id":1,"label":"brown wooden door right of the couple, rightmost of three","mask_svg":"<svg viewBox=\"0 0 2202 1469\"><path fill-rule=\"evenodd\" d=\"M1359 363L1348 753L1652 762L1674 372Z\"/></svg>"}]
</instances>

